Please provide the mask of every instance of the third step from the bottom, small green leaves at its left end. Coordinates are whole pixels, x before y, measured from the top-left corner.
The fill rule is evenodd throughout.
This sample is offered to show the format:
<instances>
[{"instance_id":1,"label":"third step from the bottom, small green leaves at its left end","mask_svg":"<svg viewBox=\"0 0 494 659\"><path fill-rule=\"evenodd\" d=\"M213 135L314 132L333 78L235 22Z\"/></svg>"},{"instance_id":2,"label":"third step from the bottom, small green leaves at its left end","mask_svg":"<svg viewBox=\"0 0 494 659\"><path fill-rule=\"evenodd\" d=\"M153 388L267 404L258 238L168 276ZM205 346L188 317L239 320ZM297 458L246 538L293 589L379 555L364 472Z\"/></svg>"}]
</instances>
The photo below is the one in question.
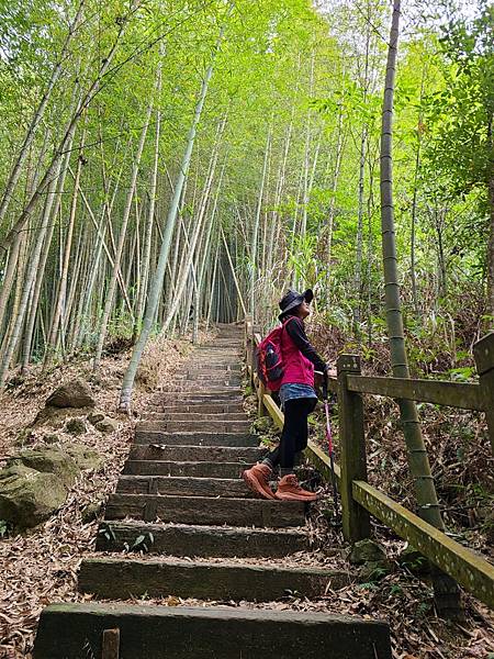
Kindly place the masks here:
<instances>
[{"instance_id":1,"label":"third step from the bottom, small green leaves at its left end","mask_svg":"<svg viewBox=\"0 0 494 659\"><path fill-rule=\"evenodd\" d=\"M103 522L98 529L97 551L123 551L139 536L153 534L150 554L201 558L281 558L308 549L307 535L291 528L238 528L189 524Z\"/></svg>"}]
</instances>

